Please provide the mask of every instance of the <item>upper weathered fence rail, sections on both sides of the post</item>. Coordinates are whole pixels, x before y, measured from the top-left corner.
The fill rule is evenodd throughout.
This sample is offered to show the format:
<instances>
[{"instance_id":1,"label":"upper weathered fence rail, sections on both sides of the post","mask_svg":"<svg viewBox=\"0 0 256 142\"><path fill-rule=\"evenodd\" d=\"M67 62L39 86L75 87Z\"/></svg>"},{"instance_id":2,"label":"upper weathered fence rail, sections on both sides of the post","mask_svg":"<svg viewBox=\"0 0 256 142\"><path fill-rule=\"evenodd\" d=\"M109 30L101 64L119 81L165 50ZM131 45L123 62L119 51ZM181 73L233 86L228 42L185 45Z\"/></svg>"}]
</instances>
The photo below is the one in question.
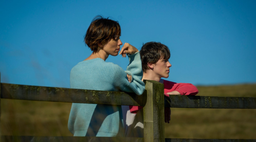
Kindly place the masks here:
<instances>
[{"instance_id":1,"label":"upper weathered fence rail, sections on both sides of the post","mask_svg":"<svg viewBox=\"0 0 256 142\"><path fill-rule=\"evenodd\" d=\"M81 90L1 83L2 99L145 106L143 97L146 96L138 96L135 93L126 92ZM169 98L165 97L165 107L255 109L256 97L170 95Z\"/></svg>"}]
</instances>

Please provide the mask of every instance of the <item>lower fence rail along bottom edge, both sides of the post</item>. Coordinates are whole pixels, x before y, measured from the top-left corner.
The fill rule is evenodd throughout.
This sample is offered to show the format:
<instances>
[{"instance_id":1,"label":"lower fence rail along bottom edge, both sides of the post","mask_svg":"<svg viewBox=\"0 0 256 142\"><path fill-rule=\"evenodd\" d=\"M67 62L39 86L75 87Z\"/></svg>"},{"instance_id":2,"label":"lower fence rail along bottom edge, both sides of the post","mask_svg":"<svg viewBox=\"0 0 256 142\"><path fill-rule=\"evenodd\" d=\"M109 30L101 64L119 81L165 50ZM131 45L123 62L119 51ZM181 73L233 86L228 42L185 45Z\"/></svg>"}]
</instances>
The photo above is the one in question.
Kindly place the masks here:
<instances>
[{"instance_id":1,"label":"lower fence rail along bottom edge, both sides of the post","mask_svg":"<svg viewBox=\"0 0 256 142\"><path fill-rule=\"evenodd\" d=\"M1 142L143 142L143 138L89 136L1 136ZM165 139L165 142L256 142L256 139Z\"/></svg>"}]
</instances>

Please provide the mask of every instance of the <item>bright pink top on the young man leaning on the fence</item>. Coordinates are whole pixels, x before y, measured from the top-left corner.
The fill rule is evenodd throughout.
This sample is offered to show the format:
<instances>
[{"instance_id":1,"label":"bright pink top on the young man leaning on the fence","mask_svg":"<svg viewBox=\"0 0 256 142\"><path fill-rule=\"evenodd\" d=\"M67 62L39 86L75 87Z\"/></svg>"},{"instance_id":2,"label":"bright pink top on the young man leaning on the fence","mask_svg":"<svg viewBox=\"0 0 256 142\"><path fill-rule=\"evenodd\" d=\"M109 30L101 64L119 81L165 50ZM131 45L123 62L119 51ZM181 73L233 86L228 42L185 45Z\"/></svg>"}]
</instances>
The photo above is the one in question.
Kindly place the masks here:
<instances>
[{"instance_id":1,"label":"bright pink top on the young man leaning on the fence","mask_svg":"<svg viewBox=\"0 0 256 142\"><path fill-rule=\"evenodd\" d=\"M175 83L172 81L163 80L164 95L169 97L169 92L177 91L180 95L196 95L198 89L190 83ZM137 113L143 107L141 106L129 106L131 113Z\"/></svg>"}]
</instances>

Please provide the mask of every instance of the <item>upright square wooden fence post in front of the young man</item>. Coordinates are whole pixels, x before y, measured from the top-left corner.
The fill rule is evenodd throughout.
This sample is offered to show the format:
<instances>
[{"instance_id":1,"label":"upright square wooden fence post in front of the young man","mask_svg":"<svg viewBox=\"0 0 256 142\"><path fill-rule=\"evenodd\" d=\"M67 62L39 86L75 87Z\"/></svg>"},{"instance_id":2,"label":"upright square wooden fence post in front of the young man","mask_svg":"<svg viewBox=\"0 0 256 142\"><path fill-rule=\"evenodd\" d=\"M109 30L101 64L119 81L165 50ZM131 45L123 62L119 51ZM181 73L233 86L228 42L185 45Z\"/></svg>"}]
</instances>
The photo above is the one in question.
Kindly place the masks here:
<instances>
[{"instance_id":1,"label":"upright square wooden fence post in front of the young man","mask_svg":"<svg viewBox=\"0 0 256 142\"><path fill-rule=\"evenodd\" d=\"M144 142L164 142L164 88L157 81L144 80L147 95L143 108Z\"/></svg>"}]
</instances>

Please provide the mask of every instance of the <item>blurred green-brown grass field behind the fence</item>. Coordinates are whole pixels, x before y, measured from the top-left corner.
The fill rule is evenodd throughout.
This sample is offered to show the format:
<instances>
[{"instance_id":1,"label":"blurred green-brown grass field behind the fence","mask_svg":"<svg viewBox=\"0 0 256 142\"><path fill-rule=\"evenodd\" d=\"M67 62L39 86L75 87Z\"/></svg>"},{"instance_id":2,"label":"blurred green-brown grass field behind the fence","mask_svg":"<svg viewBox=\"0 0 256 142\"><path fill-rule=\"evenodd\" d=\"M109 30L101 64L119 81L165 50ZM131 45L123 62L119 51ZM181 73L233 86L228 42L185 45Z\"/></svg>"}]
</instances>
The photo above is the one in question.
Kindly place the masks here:
<instances>
[{"instance_id":1,"label":"blurred green-brown grass field behind the fence","mask_svg":"<svg viewBox=\"0 0 256 142\"><path fill-rule=\"evenodd\" d=\"M198 96L256 97L256 84L198 86ZM1 99L1 135L72 136L71 103ZM256 109L171 108L166 138L256 139Z\"/></svg>"}]
</instances>

